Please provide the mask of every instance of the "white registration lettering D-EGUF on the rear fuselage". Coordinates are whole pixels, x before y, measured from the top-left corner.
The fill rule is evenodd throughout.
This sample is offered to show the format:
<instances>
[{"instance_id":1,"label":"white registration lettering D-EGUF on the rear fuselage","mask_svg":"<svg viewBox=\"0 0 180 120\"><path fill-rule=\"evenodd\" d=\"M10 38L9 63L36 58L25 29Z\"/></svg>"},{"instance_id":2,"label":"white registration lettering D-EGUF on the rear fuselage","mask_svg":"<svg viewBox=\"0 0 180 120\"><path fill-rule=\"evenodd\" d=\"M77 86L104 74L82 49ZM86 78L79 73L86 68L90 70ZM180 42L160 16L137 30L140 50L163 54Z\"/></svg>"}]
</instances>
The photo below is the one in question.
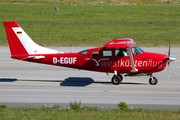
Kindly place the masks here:
<instances>
[{"instance_id":1,"label":"white registration lettering D-EGUF on the rear fuselage","mask_svg":"<svg viewBox=\"0 0 180 120\"><path fill-rule=\"evenodd\" d=\"M77 57L60 57L58 59L57 57L53 57L53 64L75 64L77 61Z\"/></svg>"}]
</instances>

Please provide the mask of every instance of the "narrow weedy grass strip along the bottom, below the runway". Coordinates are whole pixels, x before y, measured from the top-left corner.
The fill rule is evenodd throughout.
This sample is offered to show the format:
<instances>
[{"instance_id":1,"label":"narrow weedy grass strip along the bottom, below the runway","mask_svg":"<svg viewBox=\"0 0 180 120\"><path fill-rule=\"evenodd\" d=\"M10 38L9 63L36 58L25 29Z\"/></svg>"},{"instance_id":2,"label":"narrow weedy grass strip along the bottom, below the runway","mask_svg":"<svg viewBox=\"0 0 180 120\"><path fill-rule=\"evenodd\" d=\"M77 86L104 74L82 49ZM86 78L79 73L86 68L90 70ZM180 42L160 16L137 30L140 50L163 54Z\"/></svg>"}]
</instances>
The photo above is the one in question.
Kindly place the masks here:
<instances>
[{"instance_id":1,"label":"narrow weedy grass strip along the bottom, below the runway","mask_svg":"<svg viewBox=\"0 0 180 120\"><path fill-rule=\"evenodd\" d=\"M97 107L84 106L79 109L54 107L21 107L0 108L0 119L65 119L65 120L177 120L180 119L179 110L144 110L134 109L98 109Z\"/></svg>"}]
</instances>

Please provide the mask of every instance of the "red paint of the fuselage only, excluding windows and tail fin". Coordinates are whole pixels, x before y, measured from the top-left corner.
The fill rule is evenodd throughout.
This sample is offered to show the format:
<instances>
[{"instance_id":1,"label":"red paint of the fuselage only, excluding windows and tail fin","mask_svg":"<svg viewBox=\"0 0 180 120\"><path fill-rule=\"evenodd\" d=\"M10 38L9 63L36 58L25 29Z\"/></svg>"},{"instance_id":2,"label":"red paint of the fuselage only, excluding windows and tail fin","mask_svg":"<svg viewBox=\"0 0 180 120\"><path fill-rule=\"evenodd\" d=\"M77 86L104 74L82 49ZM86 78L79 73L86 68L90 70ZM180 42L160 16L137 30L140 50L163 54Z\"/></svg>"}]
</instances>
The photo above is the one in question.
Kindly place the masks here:
<instances>
[{"instance_id":1,"label":"red paint of the fuselage only, excluding windows and tail fin","mask_svg":"<svg viewBox=\"0 0 180 120\"><path fill-rule=\"evenodd\" d=\"M63 54L51 54L51 55L43 54L43 56L45 56L44 59L36 60L30 58L25 60L29 62L44 63L44 64L51 64L51 65L71 67L71 68L91 70L91 71L99 71L99 72L114 73L114 71L117 71L118 73L131 73L130 71L132 70L132 67L129 56L115 57L113 55L112 57L103 57L101 52L102 50L107 50L107 49L102 47L89 49L86 55L82 55L80 53L63 53ZM113 53L115 49L113 48L108 50L111 50ZM93 57L92 53L94 51L100 51L100 55L98 57ZM36 56L36 55L30 55L30 56ZM63 59L61 60L60 58L62 57ZM68 62L64 63L64 58L71 58L71 57L77 58L75 64L69 64ZM59 62L53 64L53 58L57 58L57 61L59 60ZM101 60L99 62L99 66L96 66L97 63L94 60L87 60L87 58L88 59L93 58L96 61L99 61L100 59L103 58L108 58L109 60ZM147 53L147 52L143 52L139 55L134 56L135 66L138 69L137 73L147 73L147 72L154 73L154 72L162 71L167 65L166 58L167 55Z\"/></svg>"}]
</instances>

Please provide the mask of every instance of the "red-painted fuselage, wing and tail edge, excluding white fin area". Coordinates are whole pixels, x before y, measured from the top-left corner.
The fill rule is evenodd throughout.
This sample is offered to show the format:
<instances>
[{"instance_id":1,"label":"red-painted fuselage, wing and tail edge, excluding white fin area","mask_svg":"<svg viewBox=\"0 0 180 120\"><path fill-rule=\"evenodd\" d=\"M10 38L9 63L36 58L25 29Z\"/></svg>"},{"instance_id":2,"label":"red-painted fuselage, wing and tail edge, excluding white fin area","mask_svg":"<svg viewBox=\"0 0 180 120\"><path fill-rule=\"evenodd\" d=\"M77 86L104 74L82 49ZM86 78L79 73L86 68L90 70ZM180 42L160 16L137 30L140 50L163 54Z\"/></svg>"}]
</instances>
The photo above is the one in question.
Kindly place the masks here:
<instances>
[{"instance_id":1,"label":"red-painted fuselage, wing and tail edge, excluding white fin area","mask_svg":"<svg viewBox=\"0 0 180 120\"><path fill-rule=\"evenodd\" d=\"M132 48L131 52L133 53L133 49L137 46L135 46L135 41L131 38L111 40L103 47L88 49L79 53L29 54L22 41L19 40L18 34L16 35L15 30L12 29L20 28L20 26L15 21L4 22L4 26L11 57L14 59L106 73L114 73L115 71L120 74L134 73L131 71L132 65L127 48ZM120 50L125 53L117 56ZM139 50L138 54L134 53L132 56L134 66L138 70L136 73L152 74L162 71L167 65L168 56L164 54Z\"/></svg>"}]
</instances>

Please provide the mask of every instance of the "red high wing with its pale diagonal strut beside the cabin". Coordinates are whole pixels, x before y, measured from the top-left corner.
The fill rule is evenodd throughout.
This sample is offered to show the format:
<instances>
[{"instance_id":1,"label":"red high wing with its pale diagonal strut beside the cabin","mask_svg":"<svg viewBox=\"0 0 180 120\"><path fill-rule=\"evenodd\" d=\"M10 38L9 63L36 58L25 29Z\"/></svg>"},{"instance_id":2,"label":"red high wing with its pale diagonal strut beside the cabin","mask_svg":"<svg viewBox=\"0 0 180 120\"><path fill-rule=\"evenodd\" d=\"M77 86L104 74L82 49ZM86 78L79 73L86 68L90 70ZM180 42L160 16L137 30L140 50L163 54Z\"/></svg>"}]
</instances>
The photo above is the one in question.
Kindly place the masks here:
<instances>
[{"instance_id":1,"label":"red high wing with its pale diagonal strut beside the cabin","mask_svg":"<svg viewBox=\"0 0 180 120\"><path fill-rule=\"evenodd\" d=\"M132 38L122 38L122 39L114 39L105 44L103 47L106 48L125 48L127 49L128 55L130 57L131 65L132 65L132 70L131 72L137 72L138 69L135 68L134 65L134 58L133 58L133 53L132 53L132 48L135 47L135 41ZM114 71L115 74L117 74L116 71Z\"/></svg>"}]
</instances>

